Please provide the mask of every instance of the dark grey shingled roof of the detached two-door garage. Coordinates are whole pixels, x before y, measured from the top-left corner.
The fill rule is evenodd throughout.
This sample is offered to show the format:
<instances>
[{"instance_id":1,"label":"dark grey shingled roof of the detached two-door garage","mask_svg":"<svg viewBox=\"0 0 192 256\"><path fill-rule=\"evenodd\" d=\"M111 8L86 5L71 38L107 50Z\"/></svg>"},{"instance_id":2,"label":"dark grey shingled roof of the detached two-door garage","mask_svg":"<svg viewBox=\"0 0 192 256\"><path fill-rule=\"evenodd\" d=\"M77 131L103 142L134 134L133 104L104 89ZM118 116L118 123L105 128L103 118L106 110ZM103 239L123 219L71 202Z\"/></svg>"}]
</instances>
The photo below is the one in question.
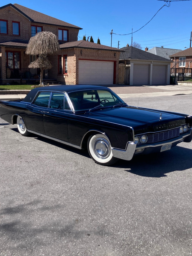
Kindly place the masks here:
<instances>
[{"instance_id":1,"label":"dark grey shingled roof of the detached two-door garage","mask_svg":"<svg viewBox=\"0 0 192 256\"><path fill-rule=\"evenodd\" d=\"M125 52L120 53L119 59L139 59L139 60L156 60L156 61L166 61L166 62L172 62L171 60L165 59L163 57L160 57L158 55L148 53L146 51L140 50L138 48L135 48L133 46L129 47L123 47L120 50L124 50Z\"/></svg>"}]
</instances>

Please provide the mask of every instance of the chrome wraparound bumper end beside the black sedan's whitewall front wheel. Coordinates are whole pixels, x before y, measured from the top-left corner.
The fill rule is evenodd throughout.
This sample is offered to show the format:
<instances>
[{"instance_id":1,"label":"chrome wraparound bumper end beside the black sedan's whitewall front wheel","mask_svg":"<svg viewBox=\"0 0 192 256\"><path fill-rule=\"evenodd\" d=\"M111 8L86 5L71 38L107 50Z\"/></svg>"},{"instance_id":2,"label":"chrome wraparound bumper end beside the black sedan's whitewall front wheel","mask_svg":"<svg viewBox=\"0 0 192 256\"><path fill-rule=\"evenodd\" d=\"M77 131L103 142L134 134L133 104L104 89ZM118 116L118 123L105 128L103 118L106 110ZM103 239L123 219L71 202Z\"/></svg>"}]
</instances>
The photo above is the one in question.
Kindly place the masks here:
<instances>
[{"instance_id":1,"label":"chrome wraparound bumper end beside the black sedan's whitewall front wheel","mask_svg":"<svg viewBox=\"0 0 192 256\"><path fill-rule=\"evenodd\" d=\"M134 156L136 145L137 144L135 142L129 142L126 150L112 148L111 151L113 156L116 158L123 160L131 160Z\"/></svg>"}]
</instances>

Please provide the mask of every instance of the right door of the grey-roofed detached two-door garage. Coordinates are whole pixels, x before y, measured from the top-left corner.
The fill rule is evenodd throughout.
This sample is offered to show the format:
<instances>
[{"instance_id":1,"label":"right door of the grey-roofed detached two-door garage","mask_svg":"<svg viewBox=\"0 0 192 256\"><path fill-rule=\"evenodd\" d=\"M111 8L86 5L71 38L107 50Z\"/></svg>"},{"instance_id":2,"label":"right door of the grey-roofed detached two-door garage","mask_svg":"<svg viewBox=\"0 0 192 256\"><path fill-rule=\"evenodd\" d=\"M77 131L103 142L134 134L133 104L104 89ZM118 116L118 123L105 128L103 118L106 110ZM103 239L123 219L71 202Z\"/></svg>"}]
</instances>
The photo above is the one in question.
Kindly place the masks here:
<instances>
[{"instance_id":1,"label":"right door of the grey-roofed detached two-door garage","mask_svg":"<svg viewBox=\"0 0 192 256\"><path fill-rule=\"evenodd\" d=\"M153 65L152 84L166 84L166 76L166 65Z\"/></svg>"}]
</instances>

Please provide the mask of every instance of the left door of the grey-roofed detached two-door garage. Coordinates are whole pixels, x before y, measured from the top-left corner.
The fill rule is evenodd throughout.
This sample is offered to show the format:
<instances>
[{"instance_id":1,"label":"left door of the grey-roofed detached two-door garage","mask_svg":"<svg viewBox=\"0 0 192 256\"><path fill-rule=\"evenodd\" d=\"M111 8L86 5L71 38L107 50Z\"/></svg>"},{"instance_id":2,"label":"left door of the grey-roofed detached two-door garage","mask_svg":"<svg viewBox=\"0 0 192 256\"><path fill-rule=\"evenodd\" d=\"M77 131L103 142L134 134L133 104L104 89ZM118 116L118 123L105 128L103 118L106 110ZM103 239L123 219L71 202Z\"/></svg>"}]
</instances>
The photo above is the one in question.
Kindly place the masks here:
<instances>
[{"instance_id":1,"label":"left door of the grey-roofed detached two-door garage","mask_svg":"<svg viewBox=\"0 0 192 256\"><path fill-rule=\"evenodd\" d=\"M133 84L149 84L149 65L134 64L133 68Z\"/></svg>"}]
</instances>

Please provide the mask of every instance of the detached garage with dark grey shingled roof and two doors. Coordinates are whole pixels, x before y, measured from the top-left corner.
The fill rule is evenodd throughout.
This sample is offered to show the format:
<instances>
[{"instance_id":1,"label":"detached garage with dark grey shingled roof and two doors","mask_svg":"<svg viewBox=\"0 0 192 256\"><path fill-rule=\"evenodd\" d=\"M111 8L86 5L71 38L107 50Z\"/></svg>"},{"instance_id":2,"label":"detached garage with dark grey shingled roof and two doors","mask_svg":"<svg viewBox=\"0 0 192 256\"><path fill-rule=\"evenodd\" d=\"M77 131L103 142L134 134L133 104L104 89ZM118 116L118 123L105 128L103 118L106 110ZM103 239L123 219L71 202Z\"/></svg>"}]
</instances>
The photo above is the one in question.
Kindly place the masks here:
<instances>
[{"instance_id":1,"label":"detached garage with dark grey shingled roof and two doors","mask_svg":"<svg viewBox=\"0 0 192 256\"><path fill-rule=\"evenodd\" d=\"M124 83L129 85L169 84L171 60L127 45L120 50L119 65L125 65Z\"/></svg>"}]
</instances>

